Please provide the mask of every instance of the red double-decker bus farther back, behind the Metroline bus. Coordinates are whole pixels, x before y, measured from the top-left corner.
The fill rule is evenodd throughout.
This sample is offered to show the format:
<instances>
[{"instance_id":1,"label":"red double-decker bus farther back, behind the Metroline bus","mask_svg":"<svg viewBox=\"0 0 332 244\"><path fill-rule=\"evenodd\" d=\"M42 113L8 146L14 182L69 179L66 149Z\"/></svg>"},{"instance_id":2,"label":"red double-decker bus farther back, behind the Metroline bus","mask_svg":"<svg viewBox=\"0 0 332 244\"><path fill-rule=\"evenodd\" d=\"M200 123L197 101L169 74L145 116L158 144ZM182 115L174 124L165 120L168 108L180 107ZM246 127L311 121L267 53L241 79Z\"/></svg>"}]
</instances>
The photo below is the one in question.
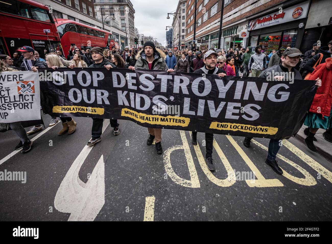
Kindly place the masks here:
<instances>
[{"instance_id":1,"label":"red double-decker bus farther back, behind the Metroline bus","mask_svg":"<svg viewBox=\"0 0 332 244\"><path fill-rule=\"evenodd\" d=\"M61 45L65 55L68 54L71 44L75 44L80 49L91 49L95 46L105 48L114 45L111 32L72 20L56 19L56 21L55 25L61 38Z\"/></svg>"}]
</instances>

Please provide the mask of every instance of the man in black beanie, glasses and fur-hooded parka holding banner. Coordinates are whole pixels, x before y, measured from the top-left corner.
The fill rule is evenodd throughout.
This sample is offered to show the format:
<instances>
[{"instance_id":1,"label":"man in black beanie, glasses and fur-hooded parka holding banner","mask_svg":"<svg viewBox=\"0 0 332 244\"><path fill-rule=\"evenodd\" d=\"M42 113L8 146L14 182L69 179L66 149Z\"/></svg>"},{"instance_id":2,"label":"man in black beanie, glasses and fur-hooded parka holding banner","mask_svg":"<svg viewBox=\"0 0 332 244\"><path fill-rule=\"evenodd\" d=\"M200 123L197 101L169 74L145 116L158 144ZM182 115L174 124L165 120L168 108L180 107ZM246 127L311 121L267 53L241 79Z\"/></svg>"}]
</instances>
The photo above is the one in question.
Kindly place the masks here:
<instances>
[{"instance_id":1,"label":"man in black beanie, glasses and fur-hooded parka holding banner","mask_svg":"<svg viewBox=\"0 0 332 244\"><path fill-rule=\"evenodd\" d=\"M140 51L136 55L136 64L135 66L129 66L130 70L135 69L153 69L153 70L167 70L167 72L173 72L173 69L169 69L165 58L166 55L163 50L156 49L153 41L145 41L143 45L143 51ZM147 128L149 132L149 137L146 141L146 144L151 145L153 139L156 142L156 152L158 154L163 153L161 147L161 129L159 128Z\"/></svg>"}]
</instances>

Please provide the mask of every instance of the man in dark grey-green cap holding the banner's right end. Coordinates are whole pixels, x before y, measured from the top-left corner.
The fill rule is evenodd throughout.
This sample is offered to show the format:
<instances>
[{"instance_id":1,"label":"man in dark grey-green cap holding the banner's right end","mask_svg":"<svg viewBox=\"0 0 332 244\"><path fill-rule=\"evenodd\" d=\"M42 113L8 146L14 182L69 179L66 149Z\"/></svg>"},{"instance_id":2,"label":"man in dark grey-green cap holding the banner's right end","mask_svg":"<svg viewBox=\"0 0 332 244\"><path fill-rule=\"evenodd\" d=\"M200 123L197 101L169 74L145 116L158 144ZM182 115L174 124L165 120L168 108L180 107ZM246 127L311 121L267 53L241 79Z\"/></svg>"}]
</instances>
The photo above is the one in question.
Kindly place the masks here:
<instances>
[{"instance_id":1,"label":"man in dark grey-green cap holding the banner's right end","mask_svg":"<svg viewBox=\"0 0 332 244\"><path fill-rule=\"evenodd\" d=\"M272 66L270 68L267 68L264 70L259 77L267 78L270 77L271 74L276 74L277 72L280 74L280 76L274 76L272 79L277 81L287 81L290 79L293 81L294 79L302 80L301 74L294 68L298 61L300 60L300 57L303 56L301 51L297 48L289 48L286 49L283 54L281 55L281 63L279 65ZM267 79L267 81L270 81ZM317 78L316 84L317 87L320 87L322 85L322 81ZM243 145L245 147L250 147L250 140L252 137L245 137L243 141ZM278 165L278 161L276 160L276 155L280 149L281 140L278 139L270 139L269 143L269 150L268 150L268 156L265 160L265 163L273 169L277 174L282 175L283 171Z\"/></svg>"}]
</instances>

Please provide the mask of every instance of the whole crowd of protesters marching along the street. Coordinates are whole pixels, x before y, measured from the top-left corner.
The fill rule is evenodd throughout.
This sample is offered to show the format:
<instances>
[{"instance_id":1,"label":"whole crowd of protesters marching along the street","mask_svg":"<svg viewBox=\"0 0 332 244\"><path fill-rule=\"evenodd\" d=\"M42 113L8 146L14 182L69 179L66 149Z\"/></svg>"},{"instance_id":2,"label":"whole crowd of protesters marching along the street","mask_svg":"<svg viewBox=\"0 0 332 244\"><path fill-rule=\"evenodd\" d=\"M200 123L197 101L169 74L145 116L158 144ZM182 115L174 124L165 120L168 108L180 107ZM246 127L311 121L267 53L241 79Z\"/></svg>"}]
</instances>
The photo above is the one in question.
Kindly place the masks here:
<instances>
[{"instance_id":1,"label":"whole crowd of protesters marching along the street","mask_svg":"<svg viewBox=\"0 0 332 244\"><path fill-rule=\"evenodd\" d=\"M266 78L269 72L292 72L294 79L316 80L318 87L304 124L308 126L304 130L307 135L305 142L308 148L316 151L313 141L318 128L326 129L323 133L325 140L332 142L332 41L327 46L313 44L313 48L303 55L299 49L281 47L279 50L272 50L270 53L263 51L263 46L257 45L254 50L251 46L246 48L229 48L200 51L189 50L188 48L161 49L156 47L154 42L146 41L142 48L135 49L125 47L123 51L115 46L110 48L93 47L81 50L77 46L71 46L67 58L60 50L52 50L46 54L45 59L30 46L18 48L12 58L7 55L0 55L0 71L14 71L16 67L25 67L25 70L37 71L38 68L50 67L96 67L106 68L129 68L164 70L167 72L189 72L224 76L249 76ZM28 62L31 60L31 62ZM31 66L32 63L32 66ZM299 71L295 66L300 63ZM275 81L284 80L284 76L275 76ZM63 128L58 133L63 135L71 134L76 129L76 122L71 118L61 118ZM53 117L49 126L58 122ZM92 138L87 145L94 145L101 140L103 119L93 118ZM10 128L20 137L20 143L15 149L27 152L31 149L32 141L28 135L42 129L41 124L35 125L28 132L25 132L21 122L9 124ZM120 133L117 120L111 120L114 135ZM151 145L155 140L156 152L163 152L161 147L162 129L148 128L147 144ZM212 160L213 134L206 133L206 162L210 170L214 170ZM245 137L243 144L250 147L250 137ZM197 132L192 132L192 144L197 145ZM271 139L269 143L266 163L278 173L283 174L278 166L276 155L280 149L279 140Z\"/></svg>"}]
</instances>

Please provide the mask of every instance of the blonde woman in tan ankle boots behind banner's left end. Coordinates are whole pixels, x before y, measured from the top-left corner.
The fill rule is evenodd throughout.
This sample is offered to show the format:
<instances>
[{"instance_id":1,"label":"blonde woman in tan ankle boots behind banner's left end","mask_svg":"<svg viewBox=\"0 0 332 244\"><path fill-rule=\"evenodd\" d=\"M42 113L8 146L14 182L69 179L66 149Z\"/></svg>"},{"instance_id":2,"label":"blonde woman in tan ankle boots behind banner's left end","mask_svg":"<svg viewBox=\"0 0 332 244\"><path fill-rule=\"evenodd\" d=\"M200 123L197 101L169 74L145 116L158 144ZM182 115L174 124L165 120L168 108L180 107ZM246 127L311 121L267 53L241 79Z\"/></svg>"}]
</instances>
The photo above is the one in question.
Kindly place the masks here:
<instances>
[{"instance_id":1,"label":"blonde woman in tan ankle boots behind banner's left end","mask_svg":"<svg viewBox=\"0 0 332 244\"><path fill-rule=\"evenodd\" d=\"M75 55L77 55L77 54L75 54ZM62 64L62 62L57 54L49 53L45 56L45 59L46 59L46 64L47 64L48 68L56 69L56 68L65 67ZM74 58L73 58L73 60L74 60ZM33 71L34 71L34 69L33 69ZM63 135L66 132L68 132L68 134L72 134L75 132L77 123L71 117L60 117L60 120L62 121L63 128L59 131L58 135ZM53 126L57 122L58 122L57 117L52 117L52 120L51 120L49 126Z\"/></svg>"}]
</instances>

